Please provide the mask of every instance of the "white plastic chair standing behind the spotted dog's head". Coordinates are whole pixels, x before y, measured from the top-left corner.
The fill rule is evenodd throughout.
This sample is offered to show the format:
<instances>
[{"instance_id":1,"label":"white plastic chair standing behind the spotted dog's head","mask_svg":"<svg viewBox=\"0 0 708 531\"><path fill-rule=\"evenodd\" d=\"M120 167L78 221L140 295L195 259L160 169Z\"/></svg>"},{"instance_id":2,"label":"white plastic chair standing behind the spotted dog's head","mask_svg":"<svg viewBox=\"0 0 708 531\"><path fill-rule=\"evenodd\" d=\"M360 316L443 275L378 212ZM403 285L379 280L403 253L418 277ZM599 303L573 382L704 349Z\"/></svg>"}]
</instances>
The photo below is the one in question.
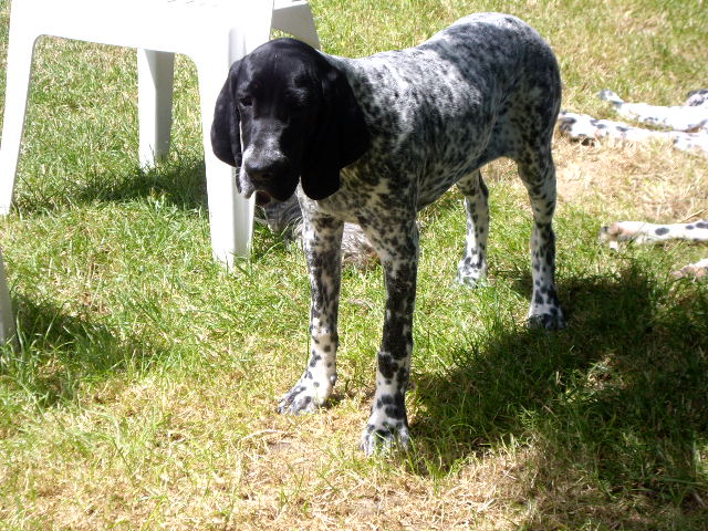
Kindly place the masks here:
<instances>
[{"instance_id":1,"label":"white plastic chair standing behind the spotted dog's head","mask_svg":"<svg viewBox=\"0 0 708 531\"><path fill-rule=\"evenodd\" d=\"M268 41L271 27L319 48L302 0L13 0L0 147L0 214L8 214L27 111L34 43L40 35L137 48L139 157L153 165L169 149L174 54L199 77L209 226L214 257L231 263L250 251L253 200L238 195L232 168L209 139L214 106L229 65Z\"/></svg>"}]
</instances>

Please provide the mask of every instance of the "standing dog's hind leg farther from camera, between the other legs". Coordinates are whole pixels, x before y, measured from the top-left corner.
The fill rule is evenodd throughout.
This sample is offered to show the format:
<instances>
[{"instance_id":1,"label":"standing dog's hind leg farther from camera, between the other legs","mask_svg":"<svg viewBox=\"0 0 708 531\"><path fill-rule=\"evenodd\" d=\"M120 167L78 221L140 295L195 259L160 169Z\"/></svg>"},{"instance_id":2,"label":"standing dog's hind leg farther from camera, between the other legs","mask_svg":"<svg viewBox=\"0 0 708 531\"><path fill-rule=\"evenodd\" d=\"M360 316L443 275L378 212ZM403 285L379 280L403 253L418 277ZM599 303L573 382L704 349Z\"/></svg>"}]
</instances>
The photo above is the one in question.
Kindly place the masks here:
<instances>
[{"instance_id":1,"label":"standing dog's hind leg farther from camera, between the other legs","mask_svg":"<svg viewBox=\"0 0 708 531\"><path fill-rule=\"evenodd\" d=\"M489 235L489 190L477 170L460 179L457 187L465 195L467 240L465 256L457 267L457 281L478 285L487 275L487 236Z\"/></svg>"}]
</instances>

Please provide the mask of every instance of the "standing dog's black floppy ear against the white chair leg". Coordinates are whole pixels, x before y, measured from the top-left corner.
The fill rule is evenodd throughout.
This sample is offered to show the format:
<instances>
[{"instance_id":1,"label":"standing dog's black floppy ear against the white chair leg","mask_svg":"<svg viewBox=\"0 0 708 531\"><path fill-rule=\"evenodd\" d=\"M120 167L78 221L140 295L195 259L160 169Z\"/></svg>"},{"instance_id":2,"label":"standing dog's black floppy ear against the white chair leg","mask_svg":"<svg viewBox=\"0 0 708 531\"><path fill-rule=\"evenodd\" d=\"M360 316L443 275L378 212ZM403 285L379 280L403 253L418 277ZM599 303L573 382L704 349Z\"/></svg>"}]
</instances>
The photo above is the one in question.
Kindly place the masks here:
<instances>
[{"instance_id":1,"label":"standing dog's black floppy ear against the white chair leg","mask_svg":"<svg viewBox=\"0 0 708 531\"><path fill-rule=\"evenodd\" d=\"M229 70L229 76L217 97L211 123L211 148L219 160L235 167L241 166L241 135L239 110L236 104L235 84L241 61Z\"/></svg>"}]
</instances>

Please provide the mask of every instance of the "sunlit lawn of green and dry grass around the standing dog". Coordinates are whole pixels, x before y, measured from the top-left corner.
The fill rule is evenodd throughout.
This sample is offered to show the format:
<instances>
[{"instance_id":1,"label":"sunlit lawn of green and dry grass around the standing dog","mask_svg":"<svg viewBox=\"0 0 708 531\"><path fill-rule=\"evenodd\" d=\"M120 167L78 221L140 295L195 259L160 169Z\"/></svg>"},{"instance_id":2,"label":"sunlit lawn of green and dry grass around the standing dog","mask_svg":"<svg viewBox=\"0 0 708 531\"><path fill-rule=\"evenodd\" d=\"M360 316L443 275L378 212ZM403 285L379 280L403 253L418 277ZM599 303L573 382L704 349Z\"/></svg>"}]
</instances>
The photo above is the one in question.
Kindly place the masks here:
<instances>
[{"instance_id":1,"label":"sunlit lawn of green and dry grass around the standing dog","mask_svg":"<svg viewBox=\"0 0 708 531\"><path fill-rule=\"evenodd\" d=\"M601 117L602 88L669 105L708 87L702 0L311 3L342 55L469 12L520 15L558 54L563 107ZM2 71L9 11L0 0ZM670 274L707 250L597 241L617 219L708 217L706 158L555 139L558 333L524 325L531 216L513 165L485 174L488 285L452 282L460 195L421 212L414 441L366 458L382 271L344 272L330 407L279 415L309 351L304 258L259 226L249 259L211 260L196 72L176 66L174 149L142 170L135 52L39 42L0 220L20 343L0 351L0 530L708 529L708 283Z\"/></svg>"}]
</instances>

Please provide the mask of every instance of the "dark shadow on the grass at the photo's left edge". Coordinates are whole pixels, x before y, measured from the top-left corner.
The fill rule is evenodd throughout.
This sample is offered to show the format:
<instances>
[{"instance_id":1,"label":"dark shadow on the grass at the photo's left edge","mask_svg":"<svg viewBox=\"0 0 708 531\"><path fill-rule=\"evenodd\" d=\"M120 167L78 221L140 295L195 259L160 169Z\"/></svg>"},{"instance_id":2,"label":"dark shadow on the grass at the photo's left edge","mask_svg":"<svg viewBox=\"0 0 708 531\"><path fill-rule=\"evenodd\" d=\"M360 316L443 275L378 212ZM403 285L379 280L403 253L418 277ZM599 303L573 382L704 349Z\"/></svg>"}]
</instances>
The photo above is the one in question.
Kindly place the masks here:
<instances>
[{"instance_id":1,"label":"dark shadow on the grass at the photo's left edge","mask_svg":"<svg viewBox=\"0 0 708 531\"><path fill-rule=\"evenodd\" d=\"M0 351L0 377L39 408L73 399L87 383L131 367L146 369L162 354L144 341L118 339L110 327L54 305L21 295L13 306L20 347Z\"/></svg>"}]
</instances>

